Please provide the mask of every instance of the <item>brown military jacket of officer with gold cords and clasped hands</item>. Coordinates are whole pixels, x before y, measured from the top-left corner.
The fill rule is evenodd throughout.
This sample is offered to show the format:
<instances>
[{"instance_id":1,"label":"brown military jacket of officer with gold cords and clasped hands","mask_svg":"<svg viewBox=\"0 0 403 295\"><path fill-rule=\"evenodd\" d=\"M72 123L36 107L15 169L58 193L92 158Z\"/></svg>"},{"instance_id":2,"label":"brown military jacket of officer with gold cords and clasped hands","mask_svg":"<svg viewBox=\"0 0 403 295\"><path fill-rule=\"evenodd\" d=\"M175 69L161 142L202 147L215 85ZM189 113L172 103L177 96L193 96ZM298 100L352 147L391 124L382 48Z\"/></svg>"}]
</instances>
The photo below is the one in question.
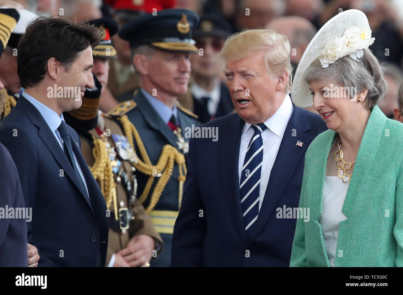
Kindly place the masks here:
<instances>
[{"instance_id":1,"label":"brown military jacket of officer with gold cords and clasped hands","mask_svg":"<svg viewBox=\"0 0 403 295\"><path fill-rule=\"evenodd\" d=\"M105 121L105 130L109 129L110 130L110 136L108 136L109 142L113 146L113 139L112 139L112 134L119 134L123 135L122 129L120 129L119 125L114 122L114 120L108 116L104 117ZM95 162L95 158L93 156L93 141L92 141L92 136L94 136L96 139L100 139L100 135L95 129L91 129L86 135L81 135L81 152L83 154L83 157L85 159L85 162L89 166L93 166ZM120 162L122 162L123 165L123 170L128 174L129 179L132 177L132 170L131 167L132 165L130 164L129 160L122 160L119 156L116 156ZM116 198L117 198L117 204L118 204L118 209L119 208L128 208L128 196L126 193L126 190L124 188L124 182L121 181L118 183L116 181L117 175L114 174L114 179L116 183ZM100 184L99 181L98 185ZM132 183L133 185L133 183ZM110 218L114 218L114 206L113 202L108 208L110 210ZM157 239L162 243L162 239L160 235L157 233L156 229L154 228L154 224L152 223L150 217L148 216L147 213L145 213L144 207L141 205L141 203L138 201L136 198L134 206L132 208L133 210L133 216L135 219L133 222L131 222L131 228L129 231L126 231L125 233L121 233L120 231L116 231L115 229L110 228L109 229L109 239L108 239L108 252L106 255L106 265L108 265L110 258L112 257L113 253L117 253L121 249L125 248L127 246L127 243L129 240L135 236L135 235L149 235L153 237L154 239ZM161 251L162 248L160 248Z\"/></svg>"}]
</instances>

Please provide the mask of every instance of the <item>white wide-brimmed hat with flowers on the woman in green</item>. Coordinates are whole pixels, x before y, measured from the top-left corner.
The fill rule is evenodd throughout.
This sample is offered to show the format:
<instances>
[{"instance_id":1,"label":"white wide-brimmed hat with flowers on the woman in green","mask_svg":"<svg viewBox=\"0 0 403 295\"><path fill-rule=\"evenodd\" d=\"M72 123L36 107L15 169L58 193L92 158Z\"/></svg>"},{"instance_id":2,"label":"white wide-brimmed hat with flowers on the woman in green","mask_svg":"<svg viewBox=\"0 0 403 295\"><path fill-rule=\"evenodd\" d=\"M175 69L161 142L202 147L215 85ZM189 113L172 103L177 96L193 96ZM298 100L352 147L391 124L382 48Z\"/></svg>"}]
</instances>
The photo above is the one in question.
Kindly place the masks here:
<instances>
[{"instance_id":1,"label":"white wide-brimmed hat with flowers on the woman in green","mask_svg":"<svg viewBox=\"0 0 403 295\"><path fill-rule=\"evenodd\" d=\"M304 76L314 60L319 59L326 68L343 56L361 58L363 49L374 42L371 33L366 15L357 9L343 11L325 23L307 46L295 71L291 89L293 103L301 108L313 104Z\"/></svg>"}]
</instances>

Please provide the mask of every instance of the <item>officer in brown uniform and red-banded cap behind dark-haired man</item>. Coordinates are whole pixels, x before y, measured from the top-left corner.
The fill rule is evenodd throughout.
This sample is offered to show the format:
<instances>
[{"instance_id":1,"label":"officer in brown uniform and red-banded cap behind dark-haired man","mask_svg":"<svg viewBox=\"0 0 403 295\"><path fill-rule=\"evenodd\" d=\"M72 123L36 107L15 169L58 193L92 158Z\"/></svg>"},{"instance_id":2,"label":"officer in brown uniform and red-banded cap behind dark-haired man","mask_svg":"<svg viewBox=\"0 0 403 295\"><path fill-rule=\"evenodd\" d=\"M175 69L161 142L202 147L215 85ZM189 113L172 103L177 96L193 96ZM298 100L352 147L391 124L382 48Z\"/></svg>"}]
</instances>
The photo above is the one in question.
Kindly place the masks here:
<instances>
[{"instance_id":1,"label":"officer in brown uniform and red-banded cap behind dark-haired man","mask_svg":"<svg viewBox=\"0 0 403 295\"><path fill-rule=\"evenodd\" d=\"M108 83L108 61L117 57L110 38L119 26L109 17L88 23L95 25L103 36L92 51L94 66L91 72L96 87L85 91L79 109L63 116L66 123L79 133L85 162L91 167L110 209L106 265L150 266L152 257L162 250L162 239L136 197L137 179L129 157L132 150L124 132L110 116L98 110ZM132 252L129 249L134 249L133 255L124 256L125 251Z\"/></svg>"}]
</instances>

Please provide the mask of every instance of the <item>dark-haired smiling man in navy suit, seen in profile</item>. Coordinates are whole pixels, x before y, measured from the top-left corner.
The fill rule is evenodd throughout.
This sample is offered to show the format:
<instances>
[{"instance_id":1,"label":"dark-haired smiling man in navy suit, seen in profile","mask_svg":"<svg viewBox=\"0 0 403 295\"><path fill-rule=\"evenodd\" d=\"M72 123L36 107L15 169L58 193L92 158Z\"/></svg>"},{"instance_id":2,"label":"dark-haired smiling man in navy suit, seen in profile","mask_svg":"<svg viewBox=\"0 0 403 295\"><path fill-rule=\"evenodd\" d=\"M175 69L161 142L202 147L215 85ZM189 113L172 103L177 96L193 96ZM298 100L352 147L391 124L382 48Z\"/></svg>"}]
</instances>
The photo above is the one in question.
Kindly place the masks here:
<instances>
[{"instance_id":1,"label":"dark-haired smiling man in navy suit, seen in profile","mask_svg":"<svg viewBox=\"0 0 403 295\"><path fill-rule=\"evenodd\" d=\"M93 87L93 26L35 19L18 46L25 91L0 122L0 142L17 166L25 206L32 208L28 243L39 266L104 266L108 219L102 192L80 152L80 139L62 112L81 106Z\"/></svg>"}]
</instances>

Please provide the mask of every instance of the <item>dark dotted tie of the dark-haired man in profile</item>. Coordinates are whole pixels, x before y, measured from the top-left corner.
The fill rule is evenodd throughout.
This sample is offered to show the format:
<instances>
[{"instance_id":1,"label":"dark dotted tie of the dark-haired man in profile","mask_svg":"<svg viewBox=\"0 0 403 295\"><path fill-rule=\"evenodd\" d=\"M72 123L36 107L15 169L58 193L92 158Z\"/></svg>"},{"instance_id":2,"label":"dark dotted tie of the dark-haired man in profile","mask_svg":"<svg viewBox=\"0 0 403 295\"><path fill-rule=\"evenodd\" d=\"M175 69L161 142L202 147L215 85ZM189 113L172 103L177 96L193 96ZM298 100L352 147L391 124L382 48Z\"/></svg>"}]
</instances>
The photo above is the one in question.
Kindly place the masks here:
<instances>
[{"instance_id":1,"label":"dark dotted tie of the dark-haired man in profile","mask_svg":"<svg viewBox=\"0 0 403 295\"><path fill-rule=\"evenodd\" d=\"M73 166L75 175L80 183L81 190L83 191L84 196L87 199L87 202L92 210L91 201L89 200L87 189L85 188L83 179L81 178L80 172L77 168L77 164L74 159L73 148L71 147L70 133L69 133L69 129L67 129L66 122L64 122L62 120L62 123L60 123L60 126L58 127L57 130L60 132L60 136L62 137L63 142L64 142L64 154L66 154L66 157L67 157L67 159L69 159L71 166ZM101 240L100 240L100 231L98 229L98 249L97 249L96 267L101 267L101 266L102 266Z\"/></svg>"}]
</instances>

